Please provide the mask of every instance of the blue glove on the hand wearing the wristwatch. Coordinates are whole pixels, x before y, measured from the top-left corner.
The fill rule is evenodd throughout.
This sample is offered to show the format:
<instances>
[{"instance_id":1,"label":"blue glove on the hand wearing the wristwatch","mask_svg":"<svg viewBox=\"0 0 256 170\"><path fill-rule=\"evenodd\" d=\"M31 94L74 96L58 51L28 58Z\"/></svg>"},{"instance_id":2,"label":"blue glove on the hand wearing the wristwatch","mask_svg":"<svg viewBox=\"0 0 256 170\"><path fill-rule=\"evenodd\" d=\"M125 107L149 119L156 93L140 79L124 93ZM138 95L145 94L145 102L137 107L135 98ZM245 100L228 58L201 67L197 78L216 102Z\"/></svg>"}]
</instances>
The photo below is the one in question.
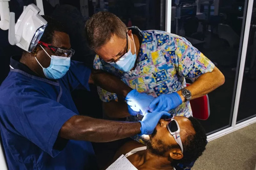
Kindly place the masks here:
<instances>
[{"instance_id":1,"label":"blue glove on the hand wearing the wristwatch","mask_svg":"<svg viewBox=\"0 0 256 170\"><path fill-rule=\"evenodd\" d=\"M151 102L150 108L153 109L153 112L167 112L171 109L175 109L180 104L182 104L180 95L177 92L173 92L170 94L159 95L157 98L155 98L155 100Z\"/></svg>"}]
</instances>

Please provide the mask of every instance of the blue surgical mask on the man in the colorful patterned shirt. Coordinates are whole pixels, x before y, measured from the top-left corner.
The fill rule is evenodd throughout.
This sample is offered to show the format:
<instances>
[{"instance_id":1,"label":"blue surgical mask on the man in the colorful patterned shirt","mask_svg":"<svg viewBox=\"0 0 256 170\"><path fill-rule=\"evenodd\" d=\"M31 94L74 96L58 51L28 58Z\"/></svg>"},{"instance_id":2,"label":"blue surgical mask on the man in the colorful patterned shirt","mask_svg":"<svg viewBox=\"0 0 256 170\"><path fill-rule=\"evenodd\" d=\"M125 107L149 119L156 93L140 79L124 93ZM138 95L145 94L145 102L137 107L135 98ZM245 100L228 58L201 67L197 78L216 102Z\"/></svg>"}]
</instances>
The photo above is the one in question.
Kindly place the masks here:
<instances>
[{"instance_id":1,"label":"blue surgical mask on the man in the colorful patterned shirt","mask_svg":"<svg viewBox=\"0 0 256 170\"><path fill-rule=\"evenodd\" d=\"M133 34L132 34L132 37L133 37ZM134 41L134 38L133 38L133 41ZM127 53L125 53L123 57L120 58L120 60L118 60L117 62L111 63L111 65L113 65L115 68L122 70L124 72L130 71L134 67L136 57L137 57L135 42L134 42L135 54L132 54L131 52L130 39L129 39L129 43L130 43L130 50Z\"/></svg>"}]
</instances>

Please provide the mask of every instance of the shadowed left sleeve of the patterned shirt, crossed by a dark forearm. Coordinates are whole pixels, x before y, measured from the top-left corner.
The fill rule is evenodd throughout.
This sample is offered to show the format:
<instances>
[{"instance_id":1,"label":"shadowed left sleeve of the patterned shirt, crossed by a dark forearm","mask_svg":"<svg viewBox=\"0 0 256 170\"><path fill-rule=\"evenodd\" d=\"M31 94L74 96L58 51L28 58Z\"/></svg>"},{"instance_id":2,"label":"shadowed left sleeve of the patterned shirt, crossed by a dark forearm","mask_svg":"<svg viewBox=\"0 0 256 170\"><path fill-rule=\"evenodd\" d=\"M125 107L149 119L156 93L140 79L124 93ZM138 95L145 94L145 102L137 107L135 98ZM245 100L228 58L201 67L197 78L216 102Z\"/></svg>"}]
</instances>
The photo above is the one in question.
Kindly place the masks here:
<instances>
[{"instance_id":1,"label":"shadowed left sleeve of the patterned shirt, crossed by a dark forearm","mask_svg":"<svg viewBox=\"0 0 256 170\"><path fill-rule=\"evenodd\" d=\"M96 55L94 58L93 67L94 69L103 69L102 63L98 55ZM97 86L97 90L98 90L99 98L102 102L110 102L110 101L118 100L116 93L111 93L109 91L106 91L99 86Z\"/></svg>"}]
</instances>

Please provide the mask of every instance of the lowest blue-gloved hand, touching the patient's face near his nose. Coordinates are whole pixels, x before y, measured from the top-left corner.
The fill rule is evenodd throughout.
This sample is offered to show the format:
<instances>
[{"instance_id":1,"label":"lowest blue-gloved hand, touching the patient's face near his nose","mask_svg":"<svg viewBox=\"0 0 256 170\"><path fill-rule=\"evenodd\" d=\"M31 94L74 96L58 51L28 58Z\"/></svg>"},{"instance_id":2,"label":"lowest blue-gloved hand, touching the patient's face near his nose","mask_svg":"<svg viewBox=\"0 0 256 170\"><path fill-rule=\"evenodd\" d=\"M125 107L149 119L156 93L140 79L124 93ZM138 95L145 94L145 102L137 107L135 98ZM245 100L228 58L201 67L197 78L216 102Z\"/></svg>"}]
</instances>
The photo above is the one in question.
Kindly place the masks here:
<instances>
[{"instance_id":1,"label":"lowest blue-gloved hand, touching the patient's face near his nose","mask_svg":"<svg viewBox=\"0 0 256 170\"><path fill-rule=\"evenodd\" d=\"M159 122L160 118L162 116L169 116L170 114L168 112L147 112L142 120L139 120L141 127L141 133L139 135L150 135L153 133L155 127L157 126L157 123Z\"/></svg>"}]
</instances>

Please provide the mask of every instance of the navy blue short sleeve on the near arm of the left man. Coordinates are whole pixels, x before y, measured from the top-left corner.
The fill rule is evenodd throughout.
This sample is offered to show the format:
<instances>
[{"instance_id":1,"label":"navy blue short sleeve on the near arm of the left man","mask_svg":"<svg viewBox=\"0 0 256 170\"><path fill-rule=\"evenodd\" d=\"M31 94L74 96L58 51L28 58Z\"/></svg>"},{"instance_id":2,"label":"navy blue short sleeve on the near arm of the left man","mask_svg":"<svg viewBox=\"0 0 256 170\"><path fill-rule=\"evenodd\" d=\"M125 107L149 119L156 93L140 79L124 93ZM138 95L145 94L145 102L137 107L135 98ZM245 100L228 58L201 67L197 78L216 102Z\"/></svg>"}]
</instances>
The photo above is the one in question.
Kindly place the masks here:
<instances>
[{"instance_id":1,"label":"navy blue short sleeve on the near arm of the left man","mask_svg":"<svg viewBox=\"0 0 256 170\"><path fill-rule=\"evenodd\" d=\"M8 109L6 122L13 126L15 133L24 136L52 157L58 155L61 151L54 149L54 143L59 130L76 113L34 89L26 89L26 93L13 97L12 104L5 106Z\"/></svg>"}]
</instances>

